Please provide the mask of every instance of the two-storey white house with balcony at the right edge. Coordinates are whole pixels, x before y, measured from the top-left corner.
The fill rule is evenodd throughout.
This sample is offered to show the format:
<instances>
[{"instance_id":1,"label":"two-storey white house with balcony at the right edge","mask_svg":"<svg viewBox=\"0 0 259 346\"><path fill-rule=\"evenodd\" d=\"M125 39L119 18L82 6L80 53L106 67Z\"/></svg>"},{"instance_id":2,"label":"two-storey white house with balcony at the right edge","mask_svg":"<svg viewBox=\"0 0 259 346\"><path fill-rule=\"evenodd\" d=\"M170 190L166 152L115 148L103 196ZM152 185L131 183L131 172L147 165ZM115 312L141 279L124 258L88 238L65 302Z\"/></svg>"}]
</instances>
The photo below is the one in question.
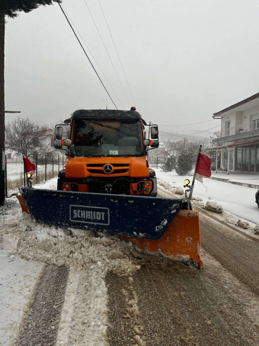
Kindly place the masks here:
<instances>
[{"instance_id":1,"label":"two-storey white house with balcony at the right edge","mask_svg":"<svg viewBox=\"0 0 259 346\"><path fill-rule=\"evenodd\" d=\"M220 170L259 173L259 93L213 113L221 119L221 130L214 133L221 151ZM218 155L217 155L218 157Z\"/></svg>"}]
</instances>

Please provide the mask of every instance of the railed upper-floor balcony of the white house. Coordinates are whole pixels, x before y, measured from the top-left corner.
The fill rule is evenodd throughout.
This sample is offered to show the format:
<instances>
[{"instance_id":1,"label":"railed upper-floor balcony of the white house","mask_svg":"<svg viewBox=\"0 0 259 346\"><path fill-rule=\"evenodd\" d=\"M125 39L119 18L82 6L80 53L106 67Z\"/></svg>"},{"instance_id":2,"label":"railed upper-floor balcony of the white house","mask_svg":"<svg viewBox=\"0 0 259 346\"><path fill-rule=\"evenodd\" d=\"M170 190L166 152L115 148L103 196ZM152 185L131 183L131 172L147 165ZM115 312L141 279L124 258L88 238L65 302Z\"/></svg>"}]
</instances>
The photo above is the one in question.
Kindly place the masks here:
<instances>
[{"instance_id":1,"label":"railed upper-floor balcony of the white house","mask_svg":"<svg viewBox=\"0 0 259 346\"><path fill-rule=\"evenodd\" d=\"M247 122L246 124L238 125L225 129L222 131L214 132L212 143L224 143L237 141L242 139L250 139L259 137L259 120Z\"/></svg>"}]
</instances>

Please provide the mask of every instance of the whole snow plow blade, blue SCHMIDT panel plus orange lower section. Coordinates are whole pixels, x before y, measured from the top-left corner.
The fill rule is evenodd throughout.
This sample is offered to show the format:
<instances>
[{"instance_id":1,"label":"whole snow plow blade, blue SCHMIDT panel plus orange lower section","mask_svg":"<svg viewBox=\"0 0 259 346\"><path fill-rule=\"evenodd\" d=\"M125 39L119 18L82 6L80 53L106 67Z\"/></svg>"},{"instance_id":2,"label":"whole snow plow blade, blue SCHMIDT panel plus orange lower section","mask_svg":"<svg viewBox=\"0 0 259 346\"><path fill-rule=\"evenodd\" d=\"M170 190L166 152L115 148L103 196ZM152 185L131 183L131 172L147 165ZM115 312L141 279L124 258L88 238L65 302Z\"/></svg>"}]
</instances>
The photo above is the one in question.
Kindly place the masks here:
<instances>
[{"instance_id":1,"label":"whole snow plow blade, blue SCHMIDT panel plus orange lower section","mask_svg":"<svg viewBox=\"0 0 259 346\"><path fill-rule=\"evenodd\" d=\"M22 211L36 222L120 235L141 251L202 267L198 212L182 210L181 199L28 187L20 192Z\"/></svg>"}]
</instances>

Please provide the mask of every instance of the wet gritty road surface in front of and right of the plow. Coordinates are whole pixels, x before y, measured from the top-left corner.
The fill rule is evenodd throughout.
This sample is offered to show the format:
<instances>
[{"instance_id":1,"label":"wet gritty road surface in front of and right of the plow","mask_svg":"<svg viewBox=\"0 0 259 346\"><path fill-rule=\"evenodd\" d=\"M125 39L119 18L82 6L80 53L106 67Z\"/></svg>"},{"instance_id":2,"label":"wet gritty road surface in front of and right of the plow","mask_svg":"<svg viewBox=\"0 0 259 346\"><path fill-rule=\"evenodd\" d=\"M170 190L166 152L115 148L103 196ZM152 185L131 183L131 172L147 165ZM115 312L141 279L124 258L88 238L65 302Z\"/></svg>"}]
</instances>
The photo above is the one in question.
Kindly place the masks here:
<instances>
[{"instance_id":1,"label":"wet gritty road surface in front of and right of the plow","mask_svg":"<svg viewBox=\"0 0 259 346\"><path fill-rule=\"evenodd\" d=\"M166 191L159 190L159 195L169 197ZM97 287L86 269L78 271L71 337L62 345L258 346L259 242L203 212L200 220L203 270L133 253L132 260L140 264L133 276L108 272L105 341L98 342L98 335L89 341L90 330L96 332L94 324L79 328L83 317L90 316L89 309L95 309L91 297ZM56 344L67 278L66 268L46 266L18 345Z\"/></svg>"}]
</instances>

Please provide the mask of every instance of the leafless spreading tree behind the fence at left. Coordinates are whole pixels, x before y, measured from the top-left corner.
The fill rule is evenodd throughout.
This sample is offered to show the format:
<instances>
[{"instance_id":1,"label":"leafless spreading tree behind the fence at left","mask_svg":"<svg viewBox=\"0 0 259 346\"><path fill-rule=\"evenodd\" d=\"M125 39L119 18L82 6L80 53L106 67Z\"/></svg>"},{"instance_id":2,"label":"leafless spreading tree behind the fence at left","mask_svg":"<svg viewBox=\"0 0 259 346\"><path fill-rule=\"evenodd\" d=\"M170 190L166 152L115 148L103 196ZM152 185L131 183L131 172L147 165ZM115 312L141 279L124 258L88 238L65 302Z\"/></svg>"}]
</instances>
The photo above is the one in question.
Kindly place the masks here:
<instances>
[{"instance_id":1,"label":"leafless spreading tree behind the fence at left","mask_svg":"<svg viewBox=\"0 0 259 346\"><path fill-rule=\"evenodd\" d=\"M6 126L6 148L16 155L24 153L28 158L38 155L39 160L45 154L54 153L49 136L54 136L54 130L46 125L38 125L28 117L17 117Z\"/></svg>"}]
</instances>

